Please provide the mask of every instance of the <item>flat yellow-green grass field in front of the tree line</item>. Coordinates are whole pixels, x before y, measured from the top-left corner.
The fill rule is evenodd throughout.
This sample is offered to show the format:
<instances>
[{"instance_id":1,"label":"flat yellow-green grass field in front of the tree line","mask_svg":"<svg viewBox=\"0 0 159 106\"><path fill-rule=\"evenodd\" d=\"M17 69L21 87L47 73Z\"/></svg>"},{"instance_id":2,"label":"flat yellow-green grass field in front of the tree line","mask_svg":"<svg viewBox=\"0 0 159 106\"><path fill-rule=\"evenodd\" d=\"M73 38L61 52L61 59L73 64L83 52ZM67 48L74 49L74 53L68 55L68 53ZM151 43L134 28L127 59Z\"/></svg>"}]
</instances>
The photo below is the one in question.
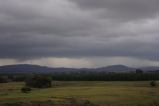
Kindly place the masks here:
<instances>
[{"instance_id":1,"label":"flat yellow-green grass field in front of the tree line","mask_svg":"<svg viewBox=\"0 0 159 106\"><path fill-rule=\"evenodd\" d=\"M158 106L159 87L148 81L70 81L53 82L52 88L21 93L22 82L0 84L0 102L28 102L65 98L87 99L100 106Z\"/></svg>"}]
</instances>

